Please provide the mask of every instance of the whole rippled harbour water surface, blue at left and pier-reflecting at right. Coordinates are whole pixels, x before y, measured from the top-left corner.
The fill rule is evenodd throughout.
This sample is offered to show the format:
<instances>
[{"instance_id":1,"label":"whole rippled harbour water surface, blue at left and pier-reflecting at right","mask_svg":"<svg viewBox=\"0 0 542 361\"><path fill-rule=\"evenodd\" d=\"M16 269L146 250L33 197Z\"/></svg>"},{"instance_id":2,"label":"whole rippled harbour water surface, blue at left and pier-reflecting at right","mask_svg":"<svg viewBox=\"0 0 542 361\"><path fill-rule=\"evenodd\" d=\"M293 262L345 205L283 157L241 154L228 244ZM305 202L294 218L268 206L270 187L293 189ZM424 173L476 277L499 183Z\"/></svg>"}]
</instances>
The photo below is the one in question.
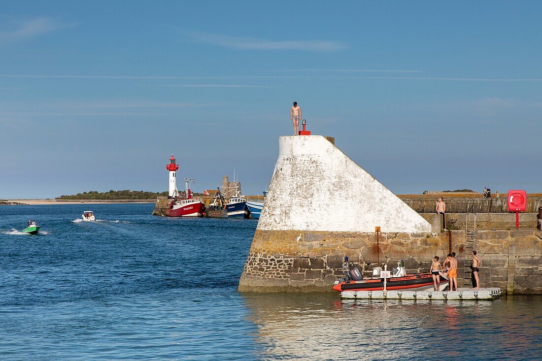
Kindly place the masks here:
<instances>
[{"instance_id":1,"label":"whole rippled harbour water surface, blue at left and pier-reflecting at right","mask_svg":"<svg viewBox=\"0 0 542 361\"><path fill-rule=\"evenodd\" d=\"M0 207L0 360L542 358L542 298L238 294L253 220ZM95 223L76 221L92 209ZM22 235L29 219L42 226Z\"/></svg>"}]
</instances>

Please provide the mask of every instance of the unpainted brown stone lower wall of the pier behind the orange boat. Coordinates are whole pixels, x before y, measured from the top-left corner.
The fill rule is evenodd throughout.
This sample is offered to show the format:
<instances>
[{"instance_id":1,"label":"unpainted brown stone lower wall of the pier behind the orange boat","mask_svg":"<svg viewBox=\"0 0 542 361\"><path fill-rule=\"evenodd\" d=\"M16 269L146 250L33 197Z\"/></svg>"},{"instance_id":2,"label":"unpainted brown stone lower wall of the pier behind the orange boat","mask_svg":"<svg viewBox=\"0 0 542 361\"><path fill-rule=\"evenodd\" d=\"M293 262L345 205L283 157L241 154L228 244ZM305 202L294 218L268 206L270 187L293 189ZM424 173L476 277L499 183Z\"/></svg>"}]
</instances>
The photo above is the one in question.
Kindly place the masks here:
<instances>
[{"instance_id":1,"label":"unpainted brown stone lower wall of the pier behind the orange boat","mask_svg":"<svg viewBox=\"0 0 542 361\"><path fill-rule=\"evenodd\" d=\"M463 284L464 231L451 231L451 250L457 253L458 281ZM388 268L405 260L408 273L428 272L431 259L449 253L449 233L379 235L315 231L256 230L239 282L241 292L332 291L342 276L344 256L370 275L387 261ZM475 249L482 259L483 287L514 293L542 293L542 231L478 231ZM369 265L370 263L370 265Z\"/></svg>"}]
</instances>

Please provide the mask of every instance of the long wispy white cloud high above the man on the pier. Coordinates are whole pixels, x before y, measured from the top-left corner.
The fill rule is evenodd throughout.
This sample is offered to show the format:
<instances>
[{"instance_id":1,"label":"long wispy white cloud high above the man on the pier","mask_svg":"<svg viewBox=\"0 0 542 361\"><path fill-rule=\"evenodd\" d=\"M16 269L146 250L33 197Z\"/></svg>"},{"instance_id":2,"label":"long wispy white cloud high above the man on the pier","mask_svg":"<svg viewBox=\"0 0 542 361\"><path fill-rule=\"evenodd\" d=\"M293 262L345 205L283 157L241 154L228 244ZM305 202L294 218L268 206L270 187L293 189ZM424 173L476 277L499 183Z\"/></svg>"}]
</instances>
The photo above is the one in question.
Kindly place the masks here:
<instances>
[{"instance_id":1,"label":"long wispy white cloud high above the man on the pier","mask_svg":"<svg viewBox=\"0 0 542 361\"><path fill-rule=\"evenodd\" d=\"M302 51L337 51L346 48L344 43L325 40L289 40L273 41L255 37L241 37L221 34L209 34L184 31L190 40L238 50L302 50Z\"/></svg>"}]
</instances>

